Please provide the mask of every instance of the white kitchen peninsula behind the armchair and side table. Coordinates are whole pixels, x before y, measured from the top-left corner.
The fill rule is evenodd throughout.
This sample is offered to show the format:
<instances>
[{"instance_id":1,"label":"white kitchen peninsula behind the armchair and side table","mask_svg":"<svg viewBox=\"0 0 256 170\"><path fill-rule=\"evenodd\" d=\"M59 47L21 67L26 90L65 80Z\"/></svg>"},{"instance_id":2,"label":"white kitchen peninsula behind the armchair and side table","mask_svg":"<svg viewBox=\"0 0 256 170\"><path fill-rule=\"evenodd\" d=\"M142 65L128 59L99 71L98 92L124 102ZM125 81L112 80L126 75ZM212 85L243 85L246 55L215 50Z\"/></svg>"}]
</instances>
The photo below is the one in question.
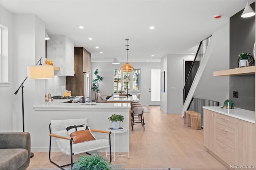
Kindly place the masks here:
<instances>
[{"instance_id":1,"label":"white kitchen peninsula behind the armchair and side table","mask_svg":"<svg viewBox=\"0 0 256 170\"><path fill-rule=\"evenodd\" d=\"M129 103L64 103L63 100L54 100L33 107L38 120L34 120L35 128L39 127L40 133L33 133L32 138L36 140L32 150L35 152L48 152L49 149L49 124L51 120L88 118L88 125L92 129L106 130L112 127L112 123L108 120L111 114L122 114L124 121L120 122L121 127L129 128ZM36 129L35 129L36 131ZM105 134L96 133L96 138L106 138ZM121 143L128 145L128 135L122 134ZM114 146L114 141L111 141ZM53 152L59 152L56 142L52 143ZM122 152L128 152L127 148ZM102 149L99 152L106 152Z\"/></svg>"}]
</instances>

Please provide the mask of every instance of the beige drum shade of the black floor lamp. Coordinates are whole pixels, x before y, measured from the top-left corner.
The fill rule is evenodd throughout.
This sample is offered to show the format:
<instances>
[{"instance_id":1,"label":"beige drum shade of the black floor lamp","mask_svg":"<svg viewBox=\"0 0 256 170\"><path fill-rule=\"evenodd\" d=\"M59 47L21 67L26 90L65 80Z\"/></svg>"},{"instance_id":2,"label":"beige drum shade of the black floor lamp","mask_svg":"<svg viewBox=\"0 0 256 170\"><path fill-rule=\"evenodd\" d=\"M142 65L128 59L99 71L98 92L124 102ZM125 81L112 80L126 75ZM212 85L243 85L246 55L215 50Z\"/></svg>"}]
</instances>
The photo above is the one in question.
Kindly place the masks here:
<instances>
[{"instance_id":1,"label":"beige drum shade of the black floor lamp","mask_svg":"<svg viewBox=\"0 0 256 170\"><path fill-rule=\"evenodd\" d=\"M28 66L28 79L54 78L53 66Z\"/></svg>"}]
</instances>

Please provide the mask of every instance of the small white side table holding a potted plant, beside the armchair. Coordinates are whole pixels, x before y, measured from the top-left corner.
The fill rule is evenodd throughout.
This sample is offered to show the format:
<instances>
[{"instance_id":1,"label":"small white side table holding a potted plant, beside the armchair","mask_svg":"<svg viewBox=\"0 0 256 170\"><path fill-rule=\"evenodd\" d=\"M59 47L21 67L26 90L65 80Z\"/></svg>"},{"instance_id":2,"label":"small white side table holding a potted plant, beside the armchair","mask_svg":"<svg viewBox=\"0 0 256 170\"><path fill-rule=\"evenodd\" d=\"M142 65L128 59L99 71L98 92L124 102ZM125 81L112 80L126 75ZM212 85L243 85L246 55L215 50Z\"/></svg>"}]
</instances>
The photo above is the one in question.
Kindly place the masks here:
<instances>
[{"instance_id":1,"label":"small white side table holding a potted plant, beside the armchair","mask_svg":"<svg viewBox=\"0 0 256 170\"><path fill-rule=\"evenodd\" d=\"M116 162L116 157L117 156L128 156L128 159L130 158L130 133L128 128L122 127L124 130L110 130L107 128L106 130L111 131L111 133L114 134L114 162ZM121 137L119 138L119 153L116 155L116 134L121 134L121 133L126 133L128 132L128 155L121 155ZM109 155L107 154L106 151L106 156Z\"/></svg>"}]
</instances>

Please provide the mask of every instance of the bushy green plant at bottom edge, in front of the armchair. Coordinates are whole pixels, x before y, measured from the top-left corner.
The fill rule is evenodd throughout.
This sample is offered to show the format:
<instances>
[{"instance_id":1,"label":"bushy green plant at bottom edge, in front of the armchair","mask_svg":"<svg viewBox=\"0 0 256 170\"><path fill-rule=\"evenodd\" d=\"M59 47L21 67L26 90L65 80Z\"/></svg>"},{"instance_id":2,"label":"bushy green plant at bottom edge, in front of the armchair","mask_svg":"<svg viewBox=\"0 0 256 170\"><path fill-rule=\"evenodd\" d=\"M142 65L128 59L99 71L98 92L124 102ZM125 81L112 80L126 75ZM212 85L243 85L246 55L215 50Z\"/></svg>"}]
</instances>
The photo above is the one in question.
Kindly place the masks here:
<instances>
[{"instance_id":1,"label":"bushy green plant at bottom edge, in front of the armchair","mask_svg":"<svg viewBox=\"0 0 256 170\"><path fill-rule=\"evenodd\" d=\"M73 170L111 170L110 162L97 153L90 156L80 156L74 164Z\"/></svg>"}]
</instances>

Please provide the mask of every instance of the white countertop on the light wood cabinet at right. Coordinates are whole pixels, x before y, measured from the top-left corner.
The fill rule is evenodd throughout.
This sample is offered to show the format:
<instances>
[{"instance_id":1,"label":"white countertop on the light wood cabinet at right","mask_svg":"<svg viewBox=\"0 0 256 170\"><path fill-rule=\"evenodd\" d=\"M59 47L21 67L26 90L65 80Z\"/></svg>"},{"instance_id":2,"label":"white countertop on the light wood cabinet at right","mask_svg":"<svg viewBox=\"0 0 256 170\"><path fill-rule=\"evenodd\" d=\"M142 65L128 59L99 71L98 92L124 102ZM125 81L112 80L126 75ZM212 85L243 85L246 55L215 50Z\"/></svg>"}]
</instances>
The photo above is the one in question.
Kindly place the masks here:
<instances>
[{"instance_id":1,"label":"white countertop on the light wood cabinet at right","mask_svg":"<svg viewBox=\"0 0 256 170\"><path fill-rule=\"evenodd\" d=\"M255 124L255 112L254 111L240 109L240 108L225 109L225 108L220 108L220 106L218 106L218 107L203 106L203 108Z\"/></svg>"}]
</instances>

